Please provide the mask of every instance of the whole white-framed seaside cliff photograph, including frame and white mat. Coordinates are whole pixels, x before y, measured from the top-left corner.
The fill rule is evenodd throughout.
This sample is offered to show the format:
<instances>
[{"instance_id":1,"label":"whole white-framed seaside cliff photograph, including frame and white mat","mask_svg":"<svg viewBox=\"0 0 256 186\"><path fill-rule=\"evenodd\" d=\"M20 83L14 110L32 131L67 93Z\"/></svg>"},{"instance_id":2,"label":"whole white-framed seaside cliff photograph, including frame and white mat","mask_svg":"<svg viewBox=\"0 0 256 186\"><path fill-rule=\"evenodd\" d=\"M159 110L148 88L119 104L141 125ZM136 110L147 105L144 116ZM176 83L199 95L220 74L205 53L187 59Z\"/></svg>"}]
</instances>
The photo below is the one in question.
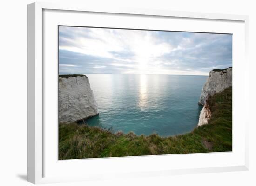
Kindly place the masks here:
<instances>
[{"instance_id":1,"label":"whole white-framed seaside cliff photograph, including frame and white mat","mask_svg":"<svg viewBox=\"0 0 256 186\"><path fill-rule=\"evenodd\" d=\"M249 169L249 17L28 5L28 181Z\"/></svg>"}]
</instances>

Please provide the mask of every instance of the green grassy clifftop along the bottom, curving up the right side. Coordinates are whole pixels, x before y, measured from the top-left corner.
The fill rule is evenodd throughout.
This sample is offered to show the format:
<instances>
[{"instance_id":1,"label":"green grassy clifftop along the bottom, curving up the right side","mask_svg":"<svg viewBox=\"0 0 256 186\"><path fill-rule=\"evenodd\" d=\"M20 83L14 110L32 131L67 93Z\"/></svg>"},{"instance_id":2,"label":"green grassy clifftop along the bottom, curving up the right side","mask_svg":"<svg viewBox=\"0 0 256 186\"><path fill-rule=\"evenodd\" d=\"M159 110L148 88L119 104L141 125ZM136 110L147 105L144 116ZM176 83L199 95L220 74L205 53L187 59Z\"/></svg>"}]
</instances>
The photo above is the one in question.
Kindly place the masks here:
<instances>
[{"instance_id":1,"label":"green grassy clifftop along the bottom, curving up the right side","mask_svg":"<svg viewBox=\"0 0 256 186\"><path fill-rule=\"evenodd\" d=\"M232 151L232 87L210 97L207 103L212 112L208 125L172 137L112 133L98 127L62 123L59 159Z\"/></svg>"}]
</instances>

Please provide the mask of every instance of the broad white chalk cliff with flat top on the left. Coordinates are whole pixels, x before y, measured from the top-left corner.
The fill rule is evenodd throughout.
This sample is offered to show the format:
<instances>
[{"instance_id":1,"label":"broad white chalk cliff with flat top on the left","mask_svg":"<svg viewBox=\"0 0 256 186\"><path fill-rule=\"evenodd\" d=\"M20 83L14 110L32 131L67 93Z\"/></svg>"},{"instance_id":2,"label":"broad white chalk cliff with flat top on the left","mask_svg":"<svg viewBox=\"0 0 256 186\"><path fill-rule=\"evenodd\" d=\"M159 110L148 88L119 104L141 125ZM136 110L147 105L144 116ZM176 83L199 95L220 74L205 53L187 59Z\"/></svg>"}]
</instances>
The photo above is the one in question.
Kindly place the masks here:
<instances>
[{"instance_id":1,"label":"broad white chalk cliff with flat top on the left","mask_svg":"<svg viewBox=\"0 0 256 186\"><path fill-rule=\"evenodd\" d=\"M59 122L76 122L98 115L88 77L59 77Z\"/></svg>"}]
</instances>

